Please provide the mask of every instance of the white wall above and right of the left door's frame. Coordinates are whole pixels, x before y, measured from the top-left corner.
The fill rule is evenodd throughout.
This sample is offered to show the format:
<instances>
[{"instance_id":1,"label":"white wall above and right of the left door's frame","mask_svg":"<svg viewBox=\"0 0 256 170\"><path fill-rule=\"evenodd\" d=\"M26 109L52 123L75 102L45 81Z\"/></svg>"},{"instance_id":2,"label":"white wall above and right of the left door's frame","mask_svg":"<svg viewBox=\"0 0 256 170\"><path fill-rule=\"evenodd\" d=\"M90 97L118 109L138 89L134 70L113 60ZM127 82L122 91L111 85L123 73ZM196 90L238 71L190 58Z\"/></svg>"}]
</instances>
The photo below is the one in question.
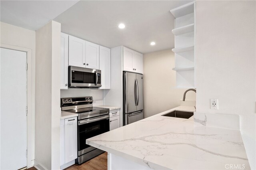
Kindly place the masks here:
<instances>
[{"instance_id":1,"label":"white wall above and right of the left door's frame","mask_svg":"<svg viewBox=\"0 0 256 170\"><path fill-rule=\"evenodd\" d=\"M35 56L36 56L36 32L27 30L21 27L13 26L0 22L0 43L24 47L32 50L31 65L32 68L32 84L31 84L31 112L32 117L30 121L32 128L28 129L28 147L31 148L31 153L28 153L28 167L33 165L34 160L34 116L35 116Z\"/></svg>"}]
</instances>

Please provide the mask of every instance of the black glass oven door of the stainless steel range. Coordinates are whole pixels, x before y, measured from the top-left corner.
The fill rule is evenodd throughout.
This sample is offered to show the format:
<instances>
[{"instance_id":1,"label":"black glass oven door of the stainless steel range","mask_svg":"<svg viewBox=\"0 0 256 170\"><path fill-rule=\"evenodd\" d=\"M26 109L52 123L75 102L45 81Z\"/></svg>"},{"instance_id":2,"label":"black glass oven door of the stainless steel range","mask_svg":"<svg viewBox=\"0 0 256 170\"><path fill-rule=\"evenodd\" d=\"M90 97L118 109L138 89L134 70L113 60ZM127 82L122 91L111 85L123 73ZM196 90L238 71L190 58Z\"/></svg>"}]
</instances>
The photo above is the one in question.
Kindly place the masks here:
<instances>
[{"instance_id":1,"label":"black glass oven door of the stainless steel range","mask_svg":"<svg viewBox=\"0 0 256 170\"><path fill-rule=\"evenodd\" d=\"M78 156L96 148L86 144L86 139L109 131L109 115L78 121Z\"/></svg>"}]
</instances>

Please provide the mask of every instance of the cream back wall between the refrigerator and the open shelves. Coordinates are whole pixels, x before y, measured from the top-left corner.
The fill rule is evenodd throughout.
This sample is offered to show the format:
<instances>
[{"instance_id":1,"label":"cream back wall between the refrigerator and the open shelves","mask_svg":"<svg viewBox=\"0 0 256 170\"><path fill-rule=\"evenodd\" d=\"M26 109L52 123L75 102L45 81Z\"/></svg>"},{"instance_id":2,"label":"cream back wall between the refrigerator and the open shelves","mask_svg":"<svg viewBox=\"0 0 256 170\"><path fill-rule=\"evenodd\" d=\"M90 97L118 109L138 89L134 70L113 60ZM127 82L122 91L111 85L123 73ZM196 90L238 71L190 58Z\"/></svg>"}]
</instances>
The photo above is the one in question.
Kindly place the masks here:
<instances>
[{"instance_id":1,"label":"cream back wall between the refrigerator and the open shelves","mask_svg":"<svg viewBox=\"0 0 256 170\"><path fill-rule=\"evenodd\" d=\"M176 86L174 53L171 49L144 54L144 114L145 117L161 113L180 105L184 91ZM186 100L196 100L189 91Z\"/></svg>"}]
</instances>

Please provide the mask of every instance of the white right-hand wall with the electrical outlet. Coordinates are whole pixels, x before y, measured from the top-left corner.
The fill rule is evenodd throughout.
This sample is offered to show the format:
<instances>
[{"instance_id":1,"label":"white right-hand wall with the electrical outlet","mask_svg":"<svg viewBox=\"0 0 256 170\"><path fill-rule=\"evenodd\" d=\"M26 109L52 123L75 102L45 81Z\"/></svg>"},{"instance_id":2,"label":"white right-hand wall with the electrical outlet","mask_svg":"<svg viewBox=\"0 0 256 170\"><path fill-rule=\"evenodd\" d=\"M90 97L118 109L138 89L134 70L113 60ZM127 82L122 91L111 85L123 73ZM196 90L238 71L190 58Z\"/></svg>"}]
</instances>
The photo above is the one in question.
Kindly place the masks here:
<instances>
[{"instance_id":1,"label":"white right-hand wall with the electrical outlet","mask_svg":"<svg viewBox=\"0 0 256 170\"><path fill-rule=\"evenodd\" d=\"M240 129L256 169L255 1L196 2L197 111L240 115ZM218 99L219 109L210 109Z\"/></svg>"}]
</instances>

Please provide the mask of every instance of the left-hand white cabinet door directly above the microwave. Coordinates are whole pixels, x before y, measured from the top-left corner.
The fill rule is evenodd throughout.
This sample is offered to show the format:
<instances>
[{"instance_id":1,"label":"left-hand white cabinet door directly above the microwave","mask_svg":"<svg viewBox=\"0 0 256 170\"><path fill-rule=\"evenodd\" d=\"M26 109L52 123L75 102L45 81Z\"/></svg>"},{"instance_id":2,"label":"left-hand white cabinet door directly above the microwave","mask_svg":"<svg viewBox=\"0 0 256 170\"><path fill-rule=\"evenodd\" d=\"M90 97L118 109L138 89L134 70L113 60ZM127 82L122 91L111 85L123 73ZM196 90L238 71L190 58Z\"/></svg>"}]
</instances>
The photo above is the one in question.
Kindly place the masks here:
<instances>
[{"instance_id":1,"label":"left-hand white cabinet door directly above the microwave","mask_svg":"<svg viewBox=\"0 0 256 170\"><path fill-rule=\"evenodd\" d=\"M69 36L68 65L85 67L85 40Z\"/></svg>"}]
</instances>

